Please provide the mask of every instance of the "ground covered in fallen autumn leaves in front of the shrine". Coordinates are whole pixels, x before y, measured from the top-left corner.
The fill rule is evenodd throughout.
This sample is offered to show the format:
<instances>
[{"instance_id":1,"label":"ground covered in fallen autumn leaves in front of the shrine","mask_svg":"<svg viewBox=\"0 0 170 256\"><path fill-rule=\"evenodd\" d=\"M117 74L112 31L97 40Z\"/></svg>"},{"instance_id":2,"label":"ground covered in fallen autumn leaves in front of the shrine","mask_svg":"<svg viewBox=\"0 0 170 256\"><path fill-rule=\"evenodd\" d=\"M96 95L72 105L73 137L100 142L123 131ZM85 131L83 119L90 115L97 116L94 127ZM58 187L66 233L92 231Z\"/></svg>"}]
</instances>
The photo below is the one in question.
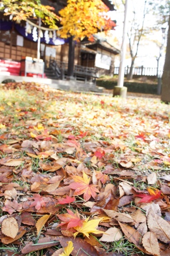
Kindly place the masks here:
<instances>
[{"instance_id":1,"label":"ground covered in fallen autumn leaves in front of the shrine","mask_svg":"<svg viewBox=\"0 0 170 256\"><path fill-rule=\"evenodd\" d=\"M0 86L0 255L170 255L170 106Z\"/></svg>"}]
</instances>

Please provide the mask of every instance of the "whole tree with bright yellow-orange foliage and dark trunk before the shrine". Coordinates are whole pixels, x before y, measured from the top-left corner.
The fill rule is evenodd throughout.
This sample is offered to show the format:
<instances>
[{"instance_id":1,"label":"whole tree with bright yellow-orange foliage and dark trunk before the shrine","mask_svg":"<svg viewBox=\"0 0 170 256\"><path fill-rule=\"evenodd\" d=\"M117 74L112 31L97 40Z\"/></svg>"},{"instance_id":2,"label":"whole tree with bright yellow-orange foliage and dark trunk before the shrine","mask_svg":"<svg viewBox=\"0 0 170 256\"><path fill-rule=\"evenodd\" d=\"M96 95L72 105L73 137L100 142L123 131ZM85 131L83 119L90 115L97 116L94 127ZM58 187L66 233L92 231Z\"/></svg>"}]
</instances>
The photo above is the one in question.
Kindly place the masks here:
<instances>
[{"instance_id":1,"label":"whole tree with bright yellow-orange foliage and dark trunk before the shrine","mask_svg":"<svg viewBox=\"0 0 170 256\"><path fill-rule=\"evenodd\" d=\"M106 13L109 8L101 0L68 0L67 6L59 11L61 16L61 37L69 38L68 76L73 76L74 40L88 37L99 31L111 30L115 25Z\"/></svg>"}]
</instances>

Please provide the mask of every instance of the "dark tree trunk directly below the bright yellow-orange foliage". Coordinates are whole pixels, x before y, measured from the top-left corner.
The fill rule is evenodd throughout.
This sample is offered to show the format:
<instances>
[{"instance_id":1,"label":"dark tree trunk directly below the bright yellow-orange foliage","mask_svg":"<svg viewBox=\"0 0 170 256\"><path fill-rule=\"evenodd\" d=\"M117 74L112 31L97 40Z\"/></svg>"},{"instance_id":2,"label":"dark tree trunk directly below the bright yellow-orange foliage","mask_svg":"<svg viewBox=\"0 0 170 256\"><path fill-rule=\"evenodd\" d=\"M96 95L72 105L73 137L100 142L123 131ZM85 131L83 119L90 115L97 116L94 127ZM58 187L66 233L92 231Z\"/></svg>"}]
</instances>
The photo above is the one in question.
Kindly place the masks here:
<instances>
[{"instance_id":1,"label":"dark tree trunk directly below the bright yellow-orange foliage","mask_svg":"<svg viewBox=\"0 0 170 256\"><path fill-rule=\"evenodd\" d=\"M75 49L75 42L73 37L69 37L69 50L68 50L68 71L67 76L68 79L74 78L74 49Z\"/></svg>"}]
</instances>

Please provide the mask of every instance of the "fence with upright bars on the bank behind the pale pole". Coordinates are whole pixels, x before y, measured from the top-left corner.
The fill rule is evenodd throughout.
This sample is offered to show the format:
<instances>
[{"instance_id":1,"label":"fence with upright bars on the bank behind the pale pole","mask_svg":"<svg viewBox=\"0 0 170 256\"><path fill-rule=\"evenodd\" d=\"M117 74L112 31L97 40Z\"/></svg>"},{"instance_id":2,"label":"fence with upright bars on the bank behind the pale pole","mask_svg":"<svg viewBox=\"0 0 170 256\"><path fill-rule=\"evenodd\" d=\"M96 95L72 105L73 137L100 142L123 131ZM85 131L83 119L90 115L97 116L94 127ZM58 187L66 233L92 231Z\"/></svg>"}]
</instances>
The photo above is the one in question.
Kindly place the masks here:
<instances>
[{"instance_id":1,"label":"fence with upright bars on the bank behind the pale pole","mask_svg":"<svg viewBox=\"0 0 170 256\"><path fill-rule=\"evenodd\" d=\"M124 68L124 75L128 75L130 67ZM158 70L157 67L133 67L133 75L137 76L162 76L163 70ZM114 67L114 75L119 74L119 67Z\"/></svg>"}]
</instances>

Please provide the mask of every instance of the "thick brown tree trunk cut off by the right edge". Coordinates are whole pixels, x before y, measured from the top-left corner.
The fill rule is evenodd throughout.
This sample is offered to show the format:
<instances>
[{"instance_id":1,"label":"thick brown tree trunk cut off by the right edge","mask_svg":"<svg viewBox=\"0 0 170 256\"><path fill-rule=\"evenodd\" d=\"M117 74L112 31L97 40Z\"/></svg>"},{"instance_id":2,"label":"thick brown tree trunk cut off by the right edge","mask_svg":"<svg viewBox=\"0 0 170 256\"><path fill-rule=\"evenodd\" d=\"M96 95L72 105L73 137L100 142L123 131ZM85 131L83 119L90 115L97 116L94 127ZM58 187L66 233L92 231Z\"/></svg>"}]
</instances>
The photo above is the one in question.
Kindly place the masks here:
<instances>
[{"instance_id":1,"label":"thick brown tree trunk cut off by the right edge","mask_svg":"<svg viewBox=\"0 0 170 256\"><path fill-rule=\"evenodd\" d=\"M164 62L163 75L162 75L162 92L161 100L163 102L170 102L170 16L169 16L169 28L167 38L167 50L166 59Z\"/></svg>"}]
</instances>

